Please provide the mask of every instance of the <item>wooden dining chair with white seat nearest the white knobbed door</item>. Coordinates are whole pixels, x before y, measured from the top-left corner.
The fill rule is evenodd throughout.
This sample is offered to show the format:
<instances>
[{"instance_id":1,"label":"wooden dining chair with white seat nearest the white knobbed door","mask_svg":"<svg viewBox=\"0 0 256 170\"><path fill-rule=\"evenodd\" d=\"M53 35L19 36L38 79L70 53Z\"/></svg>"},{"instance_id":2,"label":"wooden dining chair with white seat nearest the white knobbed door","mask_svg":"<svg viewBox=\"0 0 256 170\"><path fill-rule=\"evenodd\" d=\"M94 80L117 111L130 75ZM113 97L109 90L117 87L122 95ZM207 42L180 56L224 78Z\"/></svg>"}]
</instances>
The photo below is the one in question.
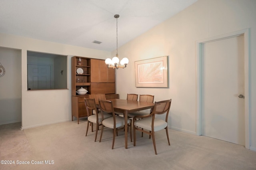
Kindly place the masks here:
<instances>
[{"instance_id":1,"label":"wooden dining chair with white seat nearest the white knobbed door","mask_svg":"<svg viewBox=\"0 0 256 170\"><path fill-rule=\"evenodd\" d=\"M144 132L152 136L155 154L156 152L156 141L155 132L165 128L168 144L170 145L169 134L168 134L168 115L171 107L172 99L155 102L153 111L150 115L146 116L134 116L133 132L134 132L134 146L136 146L136 130ZM166 113L165 120L159 119L156 115L162 115ZM143 118L143 119L140 119ZM143 128L143 129L142 129Z\"/></svg>"}]
</instances>

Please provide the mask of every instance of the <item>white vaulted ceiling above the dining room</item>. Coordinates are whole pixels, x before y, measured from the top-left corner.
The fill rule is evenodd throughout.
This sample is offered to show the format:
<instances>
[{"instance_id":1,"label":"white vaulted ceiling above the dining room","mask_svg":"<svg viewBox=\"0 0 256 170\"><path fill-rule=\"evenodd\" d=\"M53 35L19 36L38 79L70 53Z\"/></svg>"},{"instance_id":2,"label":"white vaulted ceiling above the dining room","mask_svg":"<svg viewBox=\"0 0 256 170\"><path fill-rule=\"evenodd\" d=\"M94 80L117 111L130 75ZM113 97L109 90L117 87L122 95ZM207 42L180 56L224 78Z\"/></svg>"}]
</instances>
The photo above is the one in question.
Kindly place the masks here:
<instances>
[{"instance_id":1,"label":"white vaulted ceiling above the dining room","mask_svg":"<svg viewBox=\"0 0 256 170\"><path fill-rule=\"evenodd\" d=\"M197 0L0 0L0 32L92 49L116 49ZM94 40L102 42L92 43Z\"/></svg>"}]
</instances>

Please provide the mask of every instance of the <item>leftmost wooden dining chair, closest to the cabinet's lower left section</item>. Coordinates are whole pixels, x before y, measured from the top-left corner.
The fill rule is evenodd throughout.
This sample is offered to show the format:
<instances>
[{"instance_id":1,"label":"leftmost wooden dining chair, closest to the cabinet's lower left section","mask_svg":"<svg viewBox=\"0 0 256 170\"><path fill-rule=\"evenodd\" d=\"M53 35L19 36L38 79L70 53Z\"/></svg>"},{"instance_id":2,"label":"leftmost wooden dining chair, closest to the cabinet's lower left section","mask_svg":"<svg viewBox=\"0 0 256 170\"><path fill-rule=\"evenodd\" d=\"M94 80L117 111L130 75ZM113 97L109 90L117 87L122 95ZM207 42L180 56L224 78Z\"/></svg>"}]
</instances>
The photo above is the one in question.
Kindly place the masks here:
<instances>
[{"instance_id":1,"label":"leftmost wooden dining chair, closest to the cabinet's lower left section","mask_svg":"<svg viewBox=\"0 0 256 170\"><path fill-rule=\"evenodd\" d=\"M107 114L107 113L103 113L103 115L99 114L98 110L96 108L95 99L85 98L84 103L85 103L86 111L87 111L87 128L86 128L85 136L87 136L89 124L91 123L92 132L93 132L93 123L96 123L96 132L95 132L95 139L94 139L94 142L96 142L99 126L101 125L102 120L112 117L112 115ZM92 114L92 110L94 110L96 113Z\"/></svg>"}]
</instances>

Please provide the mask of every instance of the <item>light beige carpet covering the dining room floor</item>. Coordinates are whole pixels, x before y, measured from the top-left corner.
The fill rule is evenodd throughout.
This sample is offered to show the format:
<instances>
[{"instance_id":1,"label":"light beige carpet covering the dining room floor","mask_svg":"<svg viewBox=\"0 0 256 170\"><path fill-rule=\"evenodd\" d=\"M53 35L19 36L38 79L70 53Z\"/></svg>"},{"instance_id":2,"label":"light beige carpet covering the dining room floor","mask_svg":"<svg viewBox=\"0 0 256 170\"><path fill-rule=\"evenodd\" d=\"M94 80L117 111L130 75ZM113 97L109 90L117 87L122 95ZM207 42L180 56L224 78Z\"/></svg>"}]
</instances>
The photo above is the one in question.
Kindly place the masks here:
<instances>
[{"instance_id":1,"label":"light beige carpet covering the dining room floor","mask_svg":"<svg viewBox=\"0 0 256 170\"><path fill-rule=\"evenodd\" d=\"M102 142L94 142L94 132L85 136L86 119L20 130L21 123L0 125L1 170L256 170L256 152L238 144L169 130L156 132L154 153L152 139L137 133L136 146L124 148L124 132L119 132L112 150L112 130L106 128ZM30 164L16 164L29 161ZM54 164L45 164L45 161ZM31 164L42 161L44 164ZM39 162L40 163L40 162Z\"/></svg>"}]
</instances>

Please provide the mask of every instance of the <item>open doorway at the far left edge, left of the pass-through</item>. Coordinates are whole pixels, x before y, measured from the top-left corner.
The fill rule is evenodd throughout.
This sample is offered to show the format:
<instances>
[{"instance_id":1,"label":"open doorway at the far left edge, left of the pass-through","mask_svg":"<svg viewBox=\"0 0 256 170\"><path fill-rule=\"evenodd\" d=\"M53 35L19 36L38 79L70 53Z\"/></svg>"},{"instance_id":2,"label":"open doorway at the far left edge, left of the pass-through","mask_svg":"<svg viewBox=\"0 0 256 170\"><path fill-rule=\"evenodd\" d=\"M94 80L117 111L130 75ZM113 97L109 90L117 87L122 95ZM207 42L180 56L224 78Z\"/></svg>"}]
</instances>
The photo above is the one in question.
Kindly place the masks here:
<instances>
[{"instance_id":1,"label":"open doorway at the far left edge, left of the pass-through","mask_svg":"<svg viewBox=\"0 0 256 170\"><path fill-rule=\"evenodd\" d=\"M0 125L22 121L21 58L21 49L0 47L1 68L5 70L0 77Z\"/></svg>"}]
</instances>

